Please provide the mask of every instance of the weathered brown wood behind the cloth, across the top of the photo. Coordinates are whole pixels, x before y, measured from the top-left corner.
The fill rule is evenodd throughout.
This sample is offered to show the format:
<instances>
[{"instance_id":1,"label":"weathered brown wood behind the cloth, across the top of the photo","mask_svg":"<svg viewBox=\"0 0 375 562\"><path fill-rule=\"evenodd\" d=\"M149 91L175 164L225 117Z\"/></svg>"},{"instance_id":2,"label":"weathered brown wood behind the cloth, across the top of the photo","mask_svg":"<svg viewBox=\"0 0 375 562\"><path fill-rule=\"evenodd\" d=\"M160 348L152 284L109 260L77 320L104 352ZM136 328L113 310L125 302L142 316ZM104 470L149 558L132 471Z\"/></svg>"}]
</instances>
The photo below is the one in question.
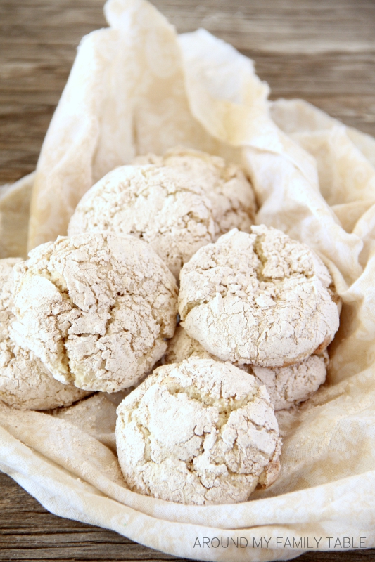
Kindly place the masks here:
<instances>
[{"instance_id":1,"label":"weathered brown wood behind the cloth, across the top of the photo","mask_svg":"<svg viewBox=\"0 0 375 562\"><path fill-rule=\"evenodd\" d=\"M372 0L155 0L179 32L205 27L255 60L272 98L302 97L375 135ZM82 35L103 0L0 0L0 183L34 169Z\"/></svg>"}]
</instances>

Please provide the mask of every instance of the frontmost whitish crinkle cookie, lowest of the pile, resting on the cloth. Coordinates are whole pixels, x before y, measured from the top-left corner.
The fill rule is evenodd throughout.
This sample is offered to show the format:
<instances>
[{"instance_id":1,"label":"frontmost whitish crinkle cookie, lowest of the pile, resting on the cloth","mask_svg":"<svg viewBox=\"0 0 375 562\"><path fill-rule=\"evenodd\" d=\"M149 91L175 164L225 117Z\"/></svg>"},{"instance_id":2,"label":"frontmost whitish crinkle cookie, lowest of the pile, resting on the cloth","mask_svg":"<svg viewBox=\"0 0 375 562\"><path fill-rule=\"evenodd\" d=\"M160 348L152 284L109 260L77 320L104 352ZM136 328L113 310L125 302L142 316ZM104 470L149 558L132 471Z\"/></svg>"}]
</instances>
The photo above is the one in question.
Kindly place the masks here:
<instances>
[{"instance_id":1,"label":"frontmost whitish crinkle cookie, lowest of the pile, resting on the cloth","mask_svg":"<svg viewBox=\"0 0 375 562\"><path fill-rule=\"evenodd\" d=\"M279 429L265 386L234 365L192 357L158 367L117 414L117 453L134 492L229 504L279 474Z\"/></svg>"}]
</instances>

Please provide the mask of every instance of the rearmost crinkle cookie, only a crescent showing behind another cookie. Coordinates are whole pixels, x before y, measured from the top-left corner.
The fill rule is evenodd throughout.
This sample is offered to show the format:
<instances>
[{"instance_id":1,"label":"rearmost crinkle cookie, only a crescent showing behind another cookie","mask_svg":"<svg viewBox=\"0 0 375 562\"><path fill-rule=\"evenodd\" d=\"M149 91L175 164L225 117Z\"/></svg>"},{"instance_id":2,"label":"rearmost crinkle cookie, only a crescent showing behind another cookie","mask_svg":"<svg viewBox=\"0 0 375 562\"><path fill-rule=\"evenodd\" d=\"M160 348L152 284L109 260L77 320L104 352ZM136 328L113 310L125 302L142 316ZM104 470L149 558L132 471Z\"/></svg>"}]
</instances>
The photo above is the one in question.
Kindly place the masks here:
<instances>
[{"instance_id":1,"label":"rearmost crinkle cookie, only a crescent showing behind another cookie","mask_svg":"<svg viewBox=\"0 0 375 562\"><path fill-rule=\"evenodd\" d=\"M134 163L172 166L199 185L212 204L215 240L231 228L250 232L256 204L253 188L236 164L192 148L176 147L163 156L139 156Z\"/></svg>"}]
</instances>

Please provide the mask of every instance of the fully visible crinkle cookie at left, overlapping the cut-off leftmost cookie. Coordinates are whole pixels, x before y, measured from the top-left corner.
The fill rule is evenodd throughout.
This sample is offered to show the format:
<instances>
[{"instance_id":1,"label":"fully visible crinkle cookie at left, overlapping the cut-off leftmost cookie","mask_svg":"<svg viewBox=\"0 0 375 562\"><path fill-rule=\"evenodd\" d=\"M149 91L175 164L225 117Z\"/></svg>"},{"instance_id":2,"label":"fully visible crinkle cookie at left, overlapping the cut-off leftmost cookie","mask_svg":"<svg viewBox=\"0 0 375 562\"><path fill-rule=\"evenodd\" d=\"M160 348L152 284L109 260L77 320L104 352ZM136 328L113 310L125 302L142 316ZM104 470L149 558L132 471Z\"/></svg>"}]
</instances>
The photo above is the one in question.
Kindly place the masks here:
<instances>
[{"instance_id":1,"label":"fully visible crinkle cookie at left, overlapping the cut-off leftmost cookie","mask_svg":"<svg viewBox=\"0 0 375 562\"><path fill-rule=\"evenodd\" d=\"M13 336L53 377L115 392L158 361L176 326L177 285L133 236L58 237L15 266Z\"/></svg>"}]
</instances>

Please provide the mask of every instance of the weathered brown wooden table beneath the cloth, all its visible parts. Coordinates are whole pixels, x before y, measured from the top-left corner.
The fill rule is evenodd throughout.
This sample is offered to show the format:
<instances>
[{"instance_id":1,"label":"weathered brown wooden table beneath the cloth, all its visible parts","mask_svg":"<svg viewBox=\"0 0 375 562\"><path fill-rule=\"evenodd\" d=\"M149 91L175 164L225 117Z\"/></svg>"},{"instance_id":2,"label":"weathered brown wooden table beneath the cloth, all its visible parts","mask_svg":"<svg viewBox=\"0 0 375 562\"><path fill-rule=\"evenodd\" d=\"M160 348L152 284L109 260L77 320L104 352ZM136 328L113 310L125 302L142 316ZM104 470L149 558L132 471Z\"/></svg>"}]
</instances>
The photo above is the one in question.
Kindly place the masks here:
<instances>
[{"instance_id":1,"label":"weathered brown wooden table beneath the cloth, all its visible parts","mask_svg":"<svg viewBox=\"0 0 375 562\"><path fill-rule=\"evenodd\" d=\"M375 136L374 0L155 0L179 32L205 27L253 58L272 99L304 98ZM35 168L82 35L103 0L0 0L0 185ZM170 560L49 514L0 474L0 560ZM179 560L182 560L181 558ZM375 560L375 549L302 561Z\"/></svg>"}]
</instances>

